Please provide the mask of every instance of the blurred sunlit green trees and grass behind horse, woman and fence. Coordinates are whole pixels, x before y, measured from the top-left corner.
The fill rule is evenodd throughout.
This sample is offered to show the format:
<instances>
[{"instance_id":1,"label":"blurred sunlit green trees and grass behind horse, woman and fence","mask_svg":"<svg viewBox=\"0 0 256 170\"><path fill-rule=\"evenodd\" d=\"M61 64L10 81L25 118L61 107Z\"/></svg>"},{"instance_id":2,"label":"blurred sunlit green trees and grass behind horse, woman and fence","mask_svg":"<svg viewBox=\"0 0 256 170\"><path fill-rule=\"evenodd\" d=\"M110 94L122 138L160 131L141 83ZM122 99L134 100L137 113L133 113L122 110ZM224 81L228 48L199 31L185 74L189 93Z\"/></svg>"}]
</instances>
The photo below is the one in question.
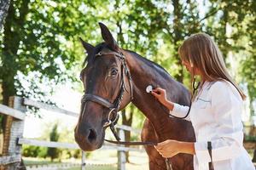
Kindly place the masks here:
<instances>
[{"instance_id":1,"label":"blurred sunlit green trees and grass behind horse, woman and fence","mask_svg":"<svg viewBox=\"0 0 256 170\"><path fill-rule=\"evenodd\" d=\"M16 95L79 113L83 94L79 73L86 56L79 37L93 45L102 42L98 22L108 26L119 47L162 65L189 88L189 74L181 65L177 48L189 35L203 31L218 43L230 74L247 94L242 113L245 143L255 145L255 14L253 0L1 1L0 103L9 105L9 97ZM121 115L119 124L142 127L144 116L135 106L129 105ZM11 125L8 117L0 114L3 156L3 144L8 141L6 136ZM77 118L29 107L24 137L73 143L76 122ZM107 137L112 135L107 133ZM140 136L125 132L125 139L140 140ZM248 151L256 161L255 148ZM85 155L88 160L94 160L96 155L105 156L106 163L116 157L116 152L96 151ZM24 144L22 156L26 164L80 162L81 151ZM126 156L128 166L135 166L128 169L148 168L145 153ZM106 169L116 166L116 159L113 160Z\"/></svg>"}]
</instances>

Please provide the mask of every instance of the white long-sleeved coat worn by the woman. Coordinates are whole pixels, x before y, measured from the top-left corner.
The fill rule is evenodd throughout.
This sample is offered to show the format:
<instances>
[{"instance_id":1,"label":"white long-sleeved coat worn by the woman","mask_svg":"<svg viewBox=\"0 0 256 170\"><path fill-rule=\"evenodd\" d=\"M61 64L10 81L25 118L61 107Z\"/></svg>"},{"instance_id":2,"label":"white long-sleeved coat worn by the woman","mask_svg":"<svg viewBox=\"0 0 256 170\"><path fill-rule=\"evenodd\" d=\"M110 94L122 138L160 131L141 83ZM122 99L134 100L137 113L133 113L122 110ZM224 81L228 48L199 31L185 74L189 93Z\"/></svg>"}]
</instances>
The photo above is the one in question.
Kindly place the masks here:
<instances>
[{"instance_id":1,"label":"white long-sleeved coat worn by the woman","mask_svg":"<svg viewBox=\"0 0 256 170\"><path fill-rule=\"evenodd\" d=\"M212 142L215 170L255 170L242 145L242 99L227 81L205 82L191 105L187 121L195 129L194 169L208 170L207 141ZM185 116L188 106L174 104L174 116Z\"/></svg>"}]
</instances>

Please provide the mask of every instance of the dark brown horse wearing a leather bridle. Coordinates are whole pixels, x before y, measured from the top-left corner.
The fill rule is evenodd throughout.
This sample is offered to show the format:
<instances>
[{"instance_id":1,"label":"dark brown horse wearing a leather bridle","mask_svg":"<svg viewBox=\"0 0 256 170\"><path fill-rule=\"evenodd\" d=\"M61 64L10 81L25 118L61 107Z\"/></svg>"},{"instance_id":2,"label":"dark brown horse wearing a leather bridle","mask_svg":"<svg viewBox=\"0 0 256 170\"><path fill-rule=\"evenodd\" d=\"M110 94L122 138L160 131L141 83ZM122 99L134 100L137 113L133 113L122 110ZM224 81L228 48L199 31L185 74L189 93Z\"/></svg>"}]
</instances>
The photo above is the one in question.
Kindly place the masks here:
<instances>
[{"instance_id":1,"label":"dark brown horse wearing a leather bridle","mask_svg":"<svg viewBox=\"0 0 256 170\"><path fill-rule=\"evenodd\" d=\"M125 90L119 99L121 103L118 109L122 110L132 102L147 117L141 134L143 141L162 142L166 139L195 141L191 123L170 118L169 111L153 95L147 94L145 88L148 84L166 88L167 98L181 105L189 105L189 91L160 65L132 51L119 48L107 26L101 23L100 26L105 42L94 47L82 41L88 56L87 65L81 71L85 99L82 99L79 122L75 128L75 140L80 148L96 150L102 147L105 125L109 121L108 116L112 115L109 113L109 108L120 97L122 87L125 87ZM127 71L125 66L130 71ZM131 74L131 83L128 73ZM121 85L122 83L124 86ZM149 156L150 170L166 169L165 159L153 146L146 146L145 149ZM171 161L173 170L193 169L193 156L178 154L173 156Z\"/></svg>"}]
</instances>

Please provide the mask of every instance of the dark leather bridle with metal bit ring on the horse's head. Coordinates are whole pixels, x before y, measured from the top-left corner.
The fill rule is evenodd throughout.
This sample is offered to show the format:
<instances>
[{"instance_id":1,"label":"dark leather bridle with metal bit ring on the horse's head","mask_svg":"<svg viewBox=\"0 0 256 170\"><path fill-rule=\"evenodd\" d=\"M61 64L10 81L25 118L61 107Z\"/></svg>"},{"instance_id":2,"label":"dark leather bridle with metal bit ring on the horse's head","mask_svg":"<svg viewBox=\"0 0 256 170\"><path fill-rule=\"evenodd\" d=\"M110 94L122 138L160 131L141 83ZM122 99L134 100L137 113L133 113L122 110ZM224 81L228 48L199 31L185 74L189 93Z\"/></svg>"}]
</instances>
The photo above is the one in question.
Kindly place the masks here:
<instances>
[{"instance_id":1,"label":"dark leather bridle with metal bit ring on the horse's head","mask_svg":"<svg viewBox=\"0 0 256 170\"><path fill-rule=\"evenodd\" d=\"M132 84L131 84L131 74L130 71L126 65L126 60L125 60L125 55L122 53L117 53L114 51L110 51L110 52L104 52L104 51L100 51L99 53L96 54L96 56L102 56L102 55L113 55L116 56L120 59L121 61L121 83L120 83L120 88L119 88L119 94L117 96L116 99L114 99L114 102L111 103L108 101L108 99L103 99L102 97L95 95L95 94L84 94L83 98L82 98L82 102L87 102L87 101L92 101L95 102L99 105L103 105L105 107L107 107L109 109L108 112L108 120L107 122L104 123L103 127L110 127L110 129L113 132L114 137L119 140L119 136L116 133L116 130L114 128L114 125L116 124L116 122L119 119L119 107L120 104L122 102L123 99L123 95L125 90L127 90L125 88L125 80L124 80L124 70L125 70L125 75L128 77L129 79L129 86L130 86L130 93L131 93L131 100L133 99L133 93L132 93Z\"/></svg>"}]
</instances>

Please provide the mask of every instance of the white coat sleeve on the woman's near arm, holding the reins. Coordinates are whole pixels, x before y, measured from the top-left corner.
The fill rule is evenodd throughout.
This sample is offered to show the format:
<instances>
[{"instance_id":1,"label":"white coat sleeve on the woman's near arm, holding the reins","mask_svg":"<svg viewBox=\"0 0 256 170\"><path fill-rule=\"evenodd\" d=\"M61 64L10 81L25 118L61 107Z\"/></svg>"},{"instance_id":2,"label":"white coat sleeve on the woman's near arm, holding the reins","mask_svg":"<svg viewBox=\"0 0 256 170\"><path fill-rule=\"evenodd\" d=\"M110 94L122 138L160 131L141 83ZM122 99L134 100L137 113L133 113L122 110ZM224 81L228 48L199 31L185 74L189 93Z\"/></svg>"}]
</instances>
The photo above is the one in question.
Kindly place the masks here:
<instances>
[{"instance_id":1,"label":"white coat sleeve on the woman's near arm, holding the reins","mask_svg":"<svg viewBox=\"0 0 256 170\"><path fill-rule=\"evenodd\" d=\"M235 158L242 150L241 102L239 94L234 94L228 82L215 82L212 87L212 113L218 127L212 129L218 138L212 140L212 161ZM207 141L195 142L195 156L199 163L211 161Z\"/></svg>"}]
</instances>

